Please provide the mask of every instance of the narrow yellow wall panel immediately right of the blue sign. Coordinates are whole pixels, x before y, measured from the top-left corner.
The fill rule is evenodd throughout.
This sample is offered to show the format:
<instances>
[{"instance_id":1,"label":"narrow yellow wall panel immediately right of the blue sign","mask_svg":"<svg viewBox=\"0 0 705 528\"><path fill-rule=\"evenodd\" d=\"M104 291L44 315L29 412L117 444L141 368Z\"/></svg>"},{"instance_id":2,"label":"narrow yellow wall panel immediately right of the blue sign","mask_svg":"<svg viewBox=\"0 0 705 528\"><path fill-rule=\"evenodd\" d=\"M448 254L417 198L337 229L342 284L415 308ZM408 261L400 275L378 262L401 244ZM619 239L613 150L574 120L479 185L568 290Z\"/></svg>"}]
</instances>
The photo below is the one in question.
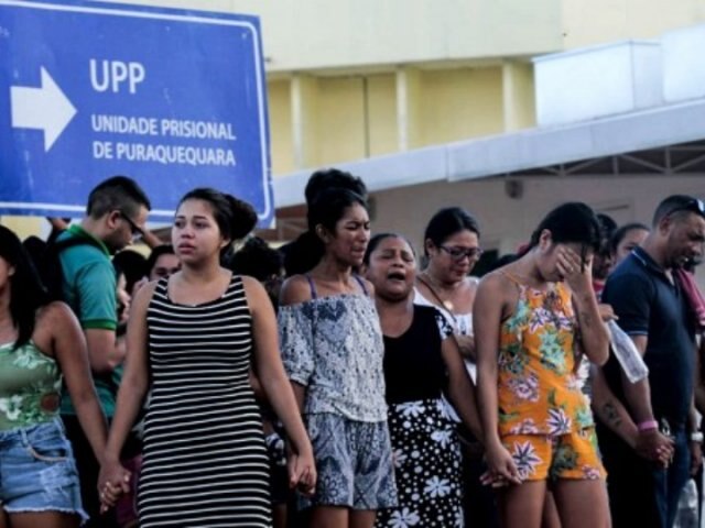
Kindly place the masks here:
<instances>
[{"instance_id":1,"label":"narrow yellow wall panel immediately right of the blue sign","mask_svg":"<svg viewBox=\"0 0 705 528\"><path fill-rule=\"evenodd\" d=\"M290 173L296 168L292 138L291 81L270 80L267 89L272 173Z\"/></svg>"}]
</instances>

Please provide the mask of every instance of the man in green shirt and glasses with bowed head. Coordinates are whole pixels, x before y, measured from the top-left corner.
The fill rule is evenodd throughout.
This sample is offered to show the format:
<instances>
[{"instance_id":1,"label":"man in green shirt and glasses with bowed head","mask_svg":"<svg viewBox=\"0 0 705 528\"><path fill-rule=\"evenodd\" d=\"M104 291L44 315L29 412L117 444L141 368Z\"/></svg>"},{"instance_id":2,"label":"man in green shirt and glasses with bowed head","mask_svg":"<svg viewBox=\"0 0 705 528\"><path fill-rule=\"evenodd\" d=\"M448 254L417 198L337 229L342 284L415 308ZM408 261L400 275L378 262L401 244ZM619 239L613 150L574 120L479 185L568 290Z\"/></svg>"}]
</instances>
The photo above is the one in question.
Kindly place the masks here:
<instances>
[{"instance_id":1,"label":"man in green shirt and glasses with bowed head","mask_svg":"<svg viewBox=\"0 0 705 528\"><path fill-rule=\"evenodd\" d=\"M86 239L85 244L72 245L59 253L63 290L84 330L96 392L108 419L116 404L112 373L123 360L116 348L116 273L110 256L142 234L150 207L147 195L134 180L115 176L90 191L86 217L57 239ZM100 465L89 449L69 398L62 400L62 418L74 446L84 509L90 517L85 526L110 527L110 519L98 519Z\"/></svg>"}]
</instances>

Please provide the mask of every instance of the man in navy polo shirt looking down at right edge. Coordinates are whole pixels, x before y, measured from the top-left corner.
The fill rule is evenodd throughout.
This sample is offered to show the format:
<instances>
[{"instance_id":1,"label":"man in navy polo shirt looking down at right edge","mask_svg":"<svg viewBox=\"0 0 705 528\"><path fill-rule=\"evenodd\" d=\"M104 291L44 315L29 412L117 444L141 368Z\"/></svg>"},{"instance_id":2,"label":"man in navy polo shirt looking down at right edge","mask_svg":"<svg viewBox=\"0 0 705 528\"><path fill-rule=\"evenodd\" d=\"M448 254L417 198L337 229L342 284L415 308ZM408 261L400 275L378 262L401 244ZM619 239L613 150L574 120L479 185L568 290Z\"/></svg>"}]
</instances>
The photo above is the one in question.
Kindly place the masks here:
<instances>
[{"instance_id":1,"label":"man in navy polo shirt looking down at right edge","mask_svg":"<svg viewBox=\"0 0 705 528\"><path fill-rule=\"evenodd\" d=\"M704 243L703 201L671 196L657 208L653 231L610 275L603 293L649 366L649 377L636 384L614 358L604 367L639 430L636 444L628 446L598 422L617 528L673 526L688 473L701 463L693 405L695 329L672 271L699 257Z\"/></svg>"}]
</instances>

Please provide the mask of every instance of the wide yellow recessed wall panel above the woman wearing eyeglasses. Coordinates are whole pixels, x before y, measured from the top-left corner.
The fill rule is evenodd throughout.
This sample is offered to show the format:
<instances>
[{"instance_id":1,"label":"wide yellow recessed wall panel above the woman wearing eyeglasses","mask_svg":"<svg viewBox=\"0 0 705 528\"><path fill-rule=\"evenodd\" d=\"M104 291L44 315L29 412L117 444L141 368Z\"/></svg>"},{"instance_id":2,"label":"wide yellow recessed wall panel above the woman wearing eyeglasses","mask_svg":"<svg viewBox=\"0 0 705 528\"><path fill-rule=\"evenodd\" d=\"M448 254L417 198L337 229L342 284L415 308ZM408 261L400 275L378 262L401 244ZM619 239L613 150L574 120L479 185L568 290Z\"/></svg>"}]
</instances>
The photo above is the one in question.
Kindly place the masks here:
<instances>
[{"instance_id":1,"label":"wide yellow recessed wall panel above the woman wearing eyeglasses","mask_svg":"<svg viewBox=\"0 0 705 528\"><path fill-rule=\"evenodd\" d=\"M502 132L499 67L429 70L421 74L422 145Z\"/></svg>"}]
</instances>

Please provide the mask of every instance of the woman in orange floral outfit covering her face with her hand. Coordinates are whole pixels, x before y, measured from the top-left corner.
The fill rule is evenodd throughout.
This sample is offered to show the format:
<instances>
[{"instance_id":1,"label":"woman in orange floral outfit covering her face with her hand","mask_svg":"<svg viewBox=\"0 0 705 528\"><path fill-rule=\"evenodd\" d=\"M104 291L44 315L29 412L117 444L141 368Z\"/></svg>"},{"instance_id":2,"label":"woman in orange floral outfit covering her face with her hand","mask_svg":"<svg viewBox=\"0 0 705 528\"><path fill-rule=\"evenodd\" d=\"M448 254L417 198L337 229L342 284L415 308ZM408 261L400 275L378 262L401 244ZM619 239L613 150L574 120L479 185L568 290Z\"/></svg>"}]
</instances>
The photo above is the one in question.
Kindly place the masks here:
<instances>
[{"instance_id":1,"label":"woman in orange floral outfit covering her face with her hand","mask_svg":"<svg viewBox=\"0 0 705 528\"><path fill-rule=\"evenodd\" d=\"M565 527L607 527L605 470L575 376L609 338L590 283L599 224L584 204L541 222L529 250L486 276L475 301L478 394L489 471L506 527L540 527L546 491Z\"/></svg>"}]
</instances>

